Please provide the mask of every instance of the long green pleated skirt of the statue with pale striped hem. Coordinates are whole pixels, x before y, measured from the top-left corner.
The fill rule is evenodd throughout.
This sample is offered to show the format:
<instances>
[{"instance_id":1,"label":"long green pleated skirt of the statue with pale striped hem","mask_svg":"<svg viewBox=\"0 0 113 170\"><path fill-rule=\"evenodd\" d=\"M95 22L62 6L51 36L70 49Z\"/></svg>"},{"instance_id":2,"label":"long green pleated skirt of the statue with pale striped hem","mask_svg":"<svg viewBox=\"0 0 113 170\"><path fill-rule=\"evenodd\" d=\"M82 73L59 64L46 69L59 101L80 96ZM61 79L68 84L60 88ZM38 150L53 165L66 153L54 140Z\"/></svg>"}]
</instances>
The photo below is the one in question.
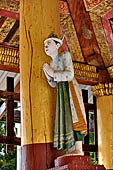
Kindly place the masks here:
<instances>
[{"instance_id":1,"label":"long green pleated skirt of the statue with pale striped hem","mask_svg":"<svg viewBox=\"0 0 113 170\"><path fill-rule=\"evenodd\" d=\"M68 82L57 84L54 147L68 151L75 145Z\"/></svg>"}]
</instances>

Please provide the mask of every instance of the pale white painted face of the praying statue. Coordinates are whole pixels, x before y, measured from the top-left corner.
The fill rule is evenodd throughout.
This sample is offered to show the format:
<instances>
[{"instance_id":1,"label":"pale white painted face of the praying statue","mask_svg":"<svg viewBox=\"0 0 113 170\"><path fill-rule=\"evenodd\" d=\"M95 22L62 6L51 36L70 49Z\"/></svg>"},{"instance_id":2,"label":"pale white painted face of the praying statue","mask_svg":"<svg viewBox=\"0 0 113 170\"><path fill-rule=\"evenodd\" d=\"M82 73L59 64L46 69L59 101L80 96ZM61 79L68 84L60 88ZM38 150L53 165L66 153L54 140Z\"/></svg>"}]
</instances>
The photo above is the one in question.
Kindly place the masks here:
<instances>
[{"instance_id":1,"label":"pale white painted face of the praying statue","mask_svg":"<svg viewBox=\"0 0 113 170\"><path fill-rule=\"evenodd\" d=\"M44 43L44 50L48 56L53 56L56 52L58 52L58 46L53 40L47 40Z\"/></svg>"}]
</instances>

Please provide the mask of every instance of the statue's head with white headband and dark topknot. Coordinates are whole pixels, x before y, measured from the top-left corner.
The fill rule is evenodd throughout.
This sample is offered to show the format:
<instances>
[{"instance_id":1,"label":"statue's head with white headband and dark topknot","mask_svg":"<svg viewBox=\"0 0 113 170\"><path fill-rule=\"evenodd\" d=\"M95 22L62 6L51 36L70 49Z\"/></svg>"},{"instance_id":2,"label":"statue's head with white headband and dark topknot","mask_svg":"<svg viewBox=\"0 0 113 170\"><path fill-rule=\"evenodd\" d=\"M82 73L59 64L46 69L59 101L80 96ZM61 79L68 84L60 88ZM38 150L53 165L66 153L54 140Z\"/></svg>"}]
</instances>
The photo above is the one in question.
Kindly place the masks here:
<instances>
[{"instance_id":1,"label":"statue's head with white headband and dark topknot","mask_svg":"<svg viewBox=\"0 0 113 170\"><path fill-rule=\"evenodd\" d=\"M48 56L52 56L58 53L58 49L62 46L62 40L57 37L57 35L51 33L48 38L44 41L45 53Z\"/></svg>"}]
</instances>

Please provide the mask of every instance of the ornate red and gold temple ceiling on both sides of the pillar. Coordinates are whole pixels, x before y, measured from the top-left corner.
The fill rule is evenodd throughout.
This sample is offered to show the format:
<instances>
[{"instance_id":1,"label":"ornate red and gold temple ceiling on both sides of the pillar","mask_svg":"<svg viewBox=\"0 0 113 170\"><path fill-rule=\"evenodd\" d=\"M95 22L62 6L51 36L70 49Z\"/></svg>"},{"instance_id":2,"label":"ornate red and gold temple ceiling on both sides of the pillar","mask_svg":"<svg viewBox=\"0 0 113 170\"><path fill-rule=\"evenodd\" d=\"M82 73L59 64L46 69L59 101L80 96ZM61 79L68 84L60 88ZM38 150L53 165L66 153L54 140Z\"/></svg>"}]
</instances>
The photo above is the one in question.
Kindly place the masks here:
<instances>
[{"instance_id":1,"label":"ornate red and gold temple ceiling on both sides of the pillar","mask_svg":"<svg viewBox=\"0 0 113 170\"><path fill-rule=\"evenodd\" d=\"M19 5L19 0L0 3L0 48L16 50L15 54L19 50ZM71 53L75 76L94 82L112 81L113 0L60 1L60 24L65 37L64 50ZM10 56L7 52L6 57L7 54Z\"/></svg>"}]
</instances>

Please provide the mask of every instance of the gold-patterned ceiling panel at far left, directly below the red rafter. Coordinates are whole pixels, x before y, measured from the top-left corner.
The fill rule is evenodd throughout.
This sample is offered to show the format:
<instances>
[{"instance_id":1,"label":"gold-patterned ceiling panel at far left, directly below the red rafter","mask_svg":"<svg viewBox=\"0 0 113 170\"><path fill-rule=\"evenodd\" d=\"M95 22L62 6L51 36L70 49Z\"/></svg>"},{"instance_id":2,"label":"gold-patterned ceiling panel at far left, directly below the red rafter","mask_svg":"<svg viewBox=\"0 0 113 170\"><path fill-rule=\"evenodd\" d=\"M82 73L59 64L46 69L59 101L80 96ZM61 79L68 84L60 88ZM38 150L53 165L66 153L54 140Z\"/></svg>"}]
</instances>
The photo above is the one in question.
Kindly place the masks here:
<instances>
[{"instance_id":1,"label":"gold-patterned ceiling panel at far left, directly below the red rafter","mask_svg":"<svg viewBox=\"0 0 113 170\"><path fill-rule=\"evenodd\" d=\"M7 18L6 21L3 23L2 27L0 28L0 43L4 41L10 29L15 24L15 21L15 19Z\"/></svg>"}]
</instances>

